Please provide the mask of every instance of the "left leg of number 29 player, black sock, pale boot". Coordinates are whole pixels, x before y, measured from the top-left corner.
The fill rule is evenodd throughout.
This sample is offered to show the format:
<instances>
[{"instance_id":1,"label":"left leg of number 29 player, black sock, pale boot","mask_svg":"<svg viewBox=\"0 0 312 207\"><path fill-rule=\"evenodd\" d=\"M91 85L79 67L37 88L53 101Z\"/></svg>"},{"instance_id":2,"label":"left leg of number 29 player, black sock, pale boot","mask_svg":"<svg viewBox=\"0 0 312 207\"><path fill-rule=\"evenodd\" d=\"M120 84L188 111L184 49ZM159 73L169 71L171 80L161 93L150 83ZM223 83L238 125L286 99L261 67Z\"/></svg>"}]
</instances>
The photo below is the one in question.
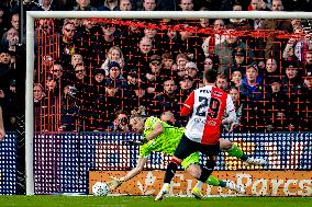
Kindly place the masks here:
<instances>
[{"instance_id":1,"label":"left leg of number 29 player, black sock, pale boot","mask_svg":"<svg viewBox=\"0 0 312 207\"><path fill-rule=\"evenodd\" d=\"M181 164L182 160L196 151L193 147L193 141L188 139L185 135L182 136L165 173L164 185L156 196L155 200L161 200L166 194L169 192L169 184L174 179L178 165Z\"/></svg>"}]
</instances>

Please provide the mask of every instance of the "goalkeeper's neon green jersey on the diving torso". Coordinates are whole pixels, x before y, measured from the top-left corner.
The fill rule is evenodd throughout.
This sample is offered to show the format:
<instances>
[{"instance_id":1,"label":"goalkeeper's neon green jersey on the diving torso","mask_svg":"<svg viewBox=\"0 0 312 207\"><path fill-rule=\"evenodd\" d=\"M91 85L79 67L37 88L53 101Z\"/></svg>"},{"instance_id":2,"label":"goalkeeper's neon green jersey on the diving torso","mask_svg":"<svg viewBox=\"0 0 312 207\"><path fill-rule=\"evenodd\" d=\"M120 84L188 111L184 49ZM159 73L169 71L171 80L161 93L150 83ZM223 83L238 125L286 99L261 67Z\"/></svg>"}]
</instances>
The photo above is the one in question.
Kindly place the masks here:
<instances>
[{"instance_id":1,"label":"goalkeeper's neon green jersey on the diving torso","mask_svg":"<svg viewBox=\"0 0 312 207\"><path fill-rule=\"evenodd\" d=\"M155 129L157 123L161 123L164 133L140 147L140 158L148 158L152 151L172 156L185 133L185 128L170 126L159 118L151 116L145 120L143 136L147 137Z\"/></svg>"}]
</instances>

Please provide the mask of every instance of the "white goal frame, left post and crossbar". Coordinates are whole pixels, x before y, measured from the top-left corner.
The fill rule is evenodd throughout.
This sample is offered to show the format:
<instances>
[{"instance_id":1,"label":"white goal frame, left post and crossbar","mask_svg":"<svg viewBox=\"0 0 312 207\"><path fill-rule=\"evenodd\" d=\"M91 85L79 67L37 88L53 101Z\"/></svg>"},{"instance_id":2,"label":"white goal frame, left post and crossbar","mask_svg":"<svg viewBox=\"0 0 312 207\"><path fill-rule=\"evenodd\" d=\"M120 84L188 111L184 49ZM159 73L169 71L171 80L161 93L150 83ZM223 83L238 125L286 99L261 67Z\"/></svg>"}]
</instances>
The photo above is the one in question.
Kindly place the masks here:
<instances>
[{"instance_id":1,"label":"white goal frame, left post and crossbar","mask_svg":"<svg viewBox=\"0 0 312 207\"><path fill-rule=\"evenodd\" d=\"M26 91L25 91L25 166L26 195L34 195L34 117L33 117L33 70L34 70L34 21L35 19L107 18L107 19L312 19L312 12L271 11L27 11L26 12Z\"/></svg>"}]
</instances>

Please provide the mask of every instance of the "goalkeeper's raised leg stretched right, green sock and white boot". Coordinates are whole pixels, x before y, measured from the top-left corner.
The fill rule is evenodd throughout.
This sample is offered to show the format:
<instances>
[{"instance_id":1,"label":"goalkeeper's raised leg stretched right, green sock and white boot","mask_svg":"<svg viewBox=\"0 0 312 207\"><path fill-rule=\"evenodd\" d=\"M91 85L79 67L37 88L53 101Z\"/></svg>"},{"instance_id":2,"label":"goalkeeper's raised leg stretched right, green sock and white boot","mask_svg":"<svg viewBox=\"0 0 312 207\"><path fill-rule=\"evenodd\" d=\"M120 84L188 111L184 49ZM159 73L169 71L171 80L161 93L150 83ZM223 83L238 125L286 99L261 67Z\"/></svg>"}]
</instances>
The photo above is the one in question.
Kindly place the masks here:
<instances>
[{"instance_id":1,"label":"goalkeeper's raised leg stretched right, green sock and white boot","mask_svg":"<svg viewBox=\"0 0 312 207\"><path fill-rule=\"evenodd\" d=\"M247 164L263 165L266 163L266 160L261 158L250 158L246 156L241 148L227 139L220 139L220 150L226 151L229 156L236 157Z\"/></svg>"}]
</instances>

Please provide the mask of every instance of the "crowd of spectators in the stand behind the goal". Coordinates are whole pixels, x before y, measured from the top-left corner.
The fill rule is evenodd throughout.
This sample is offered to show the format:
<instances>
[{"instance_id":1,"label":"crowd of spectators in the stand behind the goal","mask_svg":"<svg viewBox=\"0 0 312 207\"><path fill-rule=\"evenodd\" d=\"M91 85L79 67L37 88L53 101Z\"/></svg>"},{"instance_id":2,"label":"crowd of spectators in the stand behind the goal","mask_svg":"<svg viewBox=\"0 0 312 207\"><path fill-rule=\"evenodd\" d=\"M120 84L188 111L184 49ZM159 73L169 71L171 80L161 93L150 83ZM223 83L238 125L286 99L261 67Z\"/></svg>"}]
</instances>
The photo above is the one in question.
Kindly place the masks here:
<instances>
[{"instance_id":1,"label":"crowd of spectators in the stand behind the goal","mask_svg":"<svg viewBox=\"0 0 312 207\"><path fill-rule=\"evenodd\" d=\"M24 60L14 2L0 3L0 99L9 129L23 107L16 93L24 95L15 89L24 84L24 68L18 64ZM24 0L23 4L25 11L312 9L311 0L287 5L282 0ZM1 21L1 13L11 21ZM129 115L138 107L144 115L182 126L181 104L202 85L204 70L216 70L216 87L232 95L238 116L224 126L225 131L311 131L311 24L294 19L41 19L35 39L36 130L129 131ZM194 27L196 32L190 30Z\"/></svg>"}]
</instances>

